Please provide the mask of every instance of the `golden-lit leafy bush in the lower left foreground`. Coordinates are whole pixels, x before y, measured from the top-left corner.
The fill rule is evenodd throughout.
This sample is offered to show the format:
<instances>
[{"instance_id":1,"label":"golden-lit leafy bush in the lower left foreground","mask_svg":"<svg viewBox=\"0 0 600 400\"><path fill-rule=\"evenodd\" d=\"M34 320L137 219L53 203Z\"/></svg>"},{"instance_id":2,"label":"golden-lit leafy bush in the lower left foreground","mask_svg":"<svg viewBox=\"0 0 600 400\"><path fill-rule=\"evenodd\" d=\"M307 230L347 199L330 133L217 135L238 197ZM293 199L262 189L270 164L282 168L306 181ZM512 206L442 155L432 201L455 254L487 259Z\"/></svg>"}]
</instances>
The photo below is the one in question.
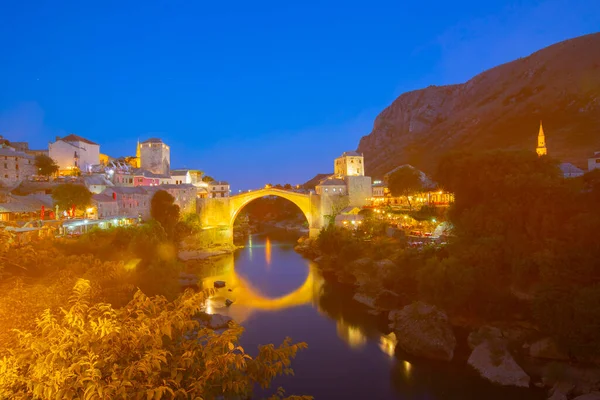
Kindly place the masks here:
<instances>
[{"instance_id":1,"label":"golden-lit leafy bush in the lower left foreground","mask_svg":"<svg viewBox=\"0 0 600 400\"><path fill-rule=\"evenodd\" d=\"M78 280L70 307L44 311L32 332L0 360L0 397L13 399L247 398L255 384L292 374L305 343L287 338L260 346L256 357L239 346L232 323L217 334L195 316L204 293L174 302L138 291L121 309L93 303L89 281ZM278 394L282 394L281 391Z\"/></svg>"}]
</instances>

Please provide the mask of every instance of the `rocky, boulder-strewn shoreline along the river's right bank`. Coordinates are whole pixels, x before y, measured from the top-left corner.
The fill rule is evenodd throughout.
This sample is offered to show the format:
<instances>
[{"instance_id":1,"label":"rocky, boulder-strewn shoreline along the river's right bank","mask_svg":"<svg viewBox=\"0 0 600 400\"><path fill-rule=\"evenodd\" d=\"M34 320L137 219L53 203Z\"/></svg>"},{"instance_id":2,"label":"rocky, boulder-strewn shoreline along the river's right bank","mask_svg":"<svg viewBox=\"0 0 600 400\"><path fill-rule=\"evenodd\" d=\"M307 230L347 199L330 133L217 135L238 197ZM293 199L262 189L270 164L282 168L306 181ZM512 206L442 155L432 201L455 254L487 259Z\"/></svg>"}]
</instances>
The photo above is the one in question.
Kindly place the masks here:
<instances>
[{"instance_id":1,"label":"rocky, boulder-strewn shoreline along the river's right bank","mask_svg":"<svg viewBox=\"0 0 600 400\"><path fill-rule=\"evenodd\" d=\"M321 254L312 239L301 238L295 250L315 261L326 279L353 287L354 300L389 322L397 349L407 354L450 361L457 347L455 332L467 330L464 361L482 378L498 385L546 388L552 400L600 400L600 367L570 358L528 321L481 324L450 318L434 305L383 289L381 282L396 267L391 260L361 258L339 268L335 257ZM362 272L367 264L376 267L376 276Z\"/></svg>"}]
</instances>

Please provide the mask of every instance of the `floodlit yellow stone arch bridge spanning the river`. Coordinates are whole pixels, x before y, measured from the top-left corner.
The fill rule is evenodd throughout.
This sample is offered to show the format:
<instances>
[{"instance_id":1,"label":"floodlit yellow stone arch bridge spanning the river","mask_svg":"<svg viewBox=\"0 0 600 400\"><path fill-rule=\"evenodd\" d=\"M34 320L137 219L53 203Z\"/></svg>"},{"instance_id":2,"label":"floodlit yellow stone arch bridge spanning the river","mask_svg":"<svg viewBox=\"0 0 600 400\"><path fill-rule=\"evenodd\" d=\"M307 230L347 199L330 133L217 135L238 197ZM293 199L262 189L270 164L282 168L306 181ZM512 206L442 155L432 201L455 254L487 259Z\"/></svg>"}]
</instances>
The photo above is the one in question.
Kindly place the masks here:
<instances>
[{"instance_id":1,"label":"floodlit yellow stone arch bridge spanning the river","mask_svg":"<svg viewBox=\"0 0 600 400\"><path fill-rule=\"evenodd\" d=\"M216 243L233 241L233 223L240 211L251 201L265 196L278 196L294 203L308 221L309 236L316 237L323 227L321 196L309 192L264 188L243 192L230 197L198 199L198 215L207 240Z\"/></svg>"}]
</instances>

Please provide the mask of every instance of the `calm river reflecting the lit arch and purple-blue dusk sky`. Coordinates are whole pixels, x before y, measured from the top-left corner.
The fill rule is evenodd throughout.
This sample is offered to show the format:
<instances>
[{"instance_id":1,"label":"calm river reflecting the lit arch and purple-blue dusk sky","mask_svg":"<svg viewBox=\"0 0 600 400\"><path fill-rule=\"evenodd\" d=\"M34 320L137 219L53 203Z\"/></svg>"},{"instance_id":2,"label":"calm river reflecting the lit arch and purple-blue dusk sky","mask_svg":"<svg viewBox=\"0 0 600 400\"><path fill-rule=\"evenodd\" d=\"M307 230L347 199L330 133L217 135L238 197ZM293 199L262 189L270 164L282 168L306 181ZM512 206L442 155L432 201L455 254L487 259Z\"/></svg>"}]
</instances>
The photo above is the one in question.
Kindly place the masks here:
<instances>
[{"instance_id":1,"label":"calm river reflecting the lit arch and purple-blue dusk sky","mask_svg":"<svg viewBox=\"0 0 600 400\"><path fill-rule=\"evenodd\" d=\"M367 314L347 288L324 281L314 263L294 251L296 239L277 232L252 235L243 249L216 259L203 280L206 287L227 282L207 312L244 326L241 345L251 355L258 345L279 344L286 336L308 344L292 362L295 376L277 378L257 398L278 386L287 395L317 400L544 398L540 391L489 384L464 359L438 363L395 352L382 332L384 321ZM234 301L230 307L224 306L227 298Z\"/></svg>"}]
</instances>

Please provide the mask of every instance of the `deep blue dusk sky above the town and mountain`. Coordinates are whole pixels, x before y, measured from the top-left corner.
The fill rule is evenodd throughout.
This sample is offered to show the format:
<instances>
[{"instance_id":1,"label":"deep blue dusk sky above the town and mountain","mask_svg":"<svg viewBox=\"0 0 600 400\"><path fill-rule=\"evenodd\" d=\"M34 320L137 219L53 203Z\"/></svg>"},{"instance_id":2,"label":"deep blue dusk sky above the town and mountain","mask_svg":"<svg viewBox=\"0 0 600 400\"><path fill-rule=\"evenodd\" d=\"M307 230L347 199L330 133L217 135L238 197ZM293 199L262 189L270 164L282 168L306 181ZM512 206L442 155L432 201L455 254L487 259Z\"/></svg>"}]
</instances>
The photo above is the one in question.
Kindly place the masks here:
<instances>
[{"instance_id":1,"label":"deep blue dusk sky above the town and mountain","mask_svg":"<svg viewBox=\"0 0 600 400\"><path fill-rule=\"evenodd\" d=\"M600 30L600 1L5 1L0 134L162 137L234 190L333 170L401 93Z\"/></svg>"}]
</instances>

